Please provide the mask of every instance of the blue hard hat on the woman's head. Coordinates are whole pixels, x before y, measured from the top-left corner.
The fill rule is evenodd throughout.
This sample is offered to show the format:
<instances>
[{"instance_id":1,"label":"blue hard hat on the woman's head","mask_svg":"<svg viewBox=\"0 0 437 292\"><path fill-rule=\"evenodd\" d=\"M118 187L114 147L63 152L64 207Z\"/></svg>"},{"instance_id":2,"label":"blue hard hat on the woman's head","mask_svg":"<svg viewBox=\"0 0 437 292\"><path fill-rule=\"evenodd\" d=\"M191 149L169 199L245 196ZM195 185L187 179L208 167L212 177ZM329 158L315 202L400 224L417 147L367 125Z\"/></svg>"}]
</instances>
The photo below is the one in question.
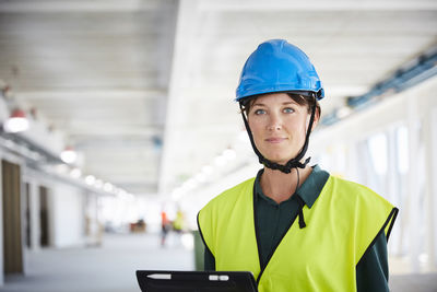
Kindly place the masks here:
<instances>
[{"instance_id":1,"label":"blue hard hat on the woman's head","mask_svg":"<svg viewBox=\"0 0 437 292\"><path fill-rule=\"evenodd\" d=\"M236 101L272 92L312 92L317 100L324 90L308 56L284 39L262 43L243 67Z\"/></svg>"}]
</instances>

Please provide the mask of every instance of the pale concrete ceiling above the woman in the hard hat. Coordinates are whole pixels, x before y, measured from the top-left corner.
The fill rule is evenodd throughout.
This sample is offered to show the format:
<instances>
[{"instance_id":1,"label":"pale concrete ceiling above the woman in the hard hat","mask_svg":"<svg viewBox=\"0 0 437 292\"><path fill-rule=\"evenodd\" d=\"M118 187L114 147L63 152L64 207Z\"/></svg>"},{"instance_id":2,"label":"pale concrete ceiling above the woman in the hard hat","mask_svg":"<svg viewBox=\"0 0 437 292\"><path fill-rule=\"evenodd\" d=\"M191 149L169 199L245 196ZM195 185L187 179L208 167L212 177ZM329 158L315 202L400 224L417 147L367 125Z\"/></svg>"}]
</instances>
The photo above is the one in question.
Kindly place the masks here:
<instances>
[{"instance_id":1,"label":"pale concrete ceiling above the woman in the hard hat","mask_svg":"<svg viewBox=\"0 0 437 292\"><path fill-rule=\"evenodd\" d=\"M132 194L169 194L243 124L257 45L286 38L323 80L323 113L437 44L437 1L0 0L0 79Z\"/></svg>"}]
</instances>

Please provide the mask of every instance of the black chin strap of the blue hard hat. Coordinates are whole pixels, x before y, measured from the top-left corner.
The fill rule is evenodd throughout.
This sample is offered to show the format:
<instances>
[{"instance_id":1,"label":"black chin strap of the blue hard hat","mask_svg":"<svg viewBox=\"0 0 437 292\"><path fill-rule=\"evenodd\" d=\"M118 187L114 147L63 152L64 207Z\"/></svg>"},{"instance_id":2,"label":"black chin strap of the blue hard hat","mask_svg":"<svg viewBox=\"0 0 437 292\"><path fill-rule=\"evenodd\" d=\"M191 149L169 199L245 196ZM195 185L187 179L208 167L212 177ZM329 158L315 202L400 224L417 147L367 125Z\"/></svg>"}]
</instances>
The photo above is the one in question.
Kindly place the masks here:
<instances>
[{"instance_id":1,"label":"black chin strap of the blue hard hat","mask_svg":"<svg viewBox=\"0 0 437 292\"><path fill-rule=\"evenodd\" d=\"M241 103L239 103L239 108L241 109L243 120L245 122L245 127L246 127L247 133L249 135L250 143L251 143L251 145L253 148L253 151L257 154L258 160L259 160L259 162L261 164L263 164L268 168L277 170L277 171L281 171L281 172L283 172L285 174L290 174L293 168L297 168L297 167L298 168L305 168L305 166L309 163L311 157L307 157L304 163L302 163L300 160L305 156L305 153L308 150L309 135L311 133L311 128L312 128L312 124L314 124L314 119L315 119L315 115L316 115L316 106L312 106L312 108L311 108L311 118L309 120L308 130L307 130L307 133L306 133L306 137L305 137L304 147L302 148L300 152L296 155L296 157L291 159L285 165L269 161L268 159L265 159L261 154L261 152L259 152L259 150L255 145L252 131L250 130L249 122L247 121L247 118L246 118L246 115L245 115L245 110L244 110L244 106L243 106Z\"/></svg>"}]
</instances>

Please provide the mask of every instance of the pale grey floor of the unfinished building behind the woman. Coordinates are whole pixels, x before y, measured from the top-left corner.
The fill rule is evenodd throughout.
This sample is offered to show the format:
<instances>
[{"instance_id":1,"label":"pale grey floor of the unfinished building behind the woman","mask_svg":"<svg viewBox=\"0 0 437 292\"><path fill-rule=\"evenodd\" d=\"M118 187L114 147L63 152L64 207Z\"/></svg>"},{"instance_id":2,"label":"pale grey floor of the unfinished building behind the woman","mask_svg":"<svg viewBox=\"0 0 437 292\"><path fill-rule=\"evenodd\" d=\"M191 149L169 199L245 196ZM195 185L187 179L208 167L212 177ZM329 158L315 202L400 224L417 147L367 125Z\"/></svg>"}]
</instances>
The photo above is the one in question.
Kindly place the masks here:
<instances>
[{"instance_id":1,"label":"pale grey floor of the unfinished building behind the woman","mask_svg":"<svg viewBox=\"0 0 437 292\"><path fill-rule=\"evenodd\" d=\"M190 238L172 235L162 248L157 234L105 235L102 247L28 253L27 275L7 277L0 291L138 292L137 269L193 268ZM437 292L437 273L393 275L390 287L392 292Z\"/></svg>"}]
</instances>

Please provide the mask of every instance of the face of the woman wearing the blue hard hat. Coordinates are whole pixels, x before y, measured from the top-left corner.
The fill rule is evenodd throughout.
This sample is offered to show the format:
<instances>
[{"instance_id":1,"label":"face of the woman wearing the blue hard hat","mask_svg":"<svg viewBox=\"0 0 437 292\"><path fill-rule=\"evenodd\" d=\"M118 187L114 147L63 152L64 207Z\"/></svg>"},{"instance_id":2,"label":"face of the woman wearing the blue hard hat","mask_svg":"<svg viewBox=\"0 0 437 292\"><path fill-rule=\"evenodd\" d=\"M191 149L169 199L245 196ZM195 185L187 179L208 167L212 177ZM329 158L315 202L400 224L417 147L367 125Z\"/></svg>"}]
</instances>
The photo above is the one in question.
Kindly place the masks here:
<instances>
[{"instance_id":1,"label":"face of the woman wearing the blue hard hat","mask_svg":"<svg viewBox=\"0 0 437 292\"><path fill-rule=\"evenodd\" d=\"M265 159L283 165L304 147L309 120L308 106L299 105L286 93L257 97L248 114L258 150ZM317 121L316 115L312 128Z\"/></svg>"}]
</instances>

